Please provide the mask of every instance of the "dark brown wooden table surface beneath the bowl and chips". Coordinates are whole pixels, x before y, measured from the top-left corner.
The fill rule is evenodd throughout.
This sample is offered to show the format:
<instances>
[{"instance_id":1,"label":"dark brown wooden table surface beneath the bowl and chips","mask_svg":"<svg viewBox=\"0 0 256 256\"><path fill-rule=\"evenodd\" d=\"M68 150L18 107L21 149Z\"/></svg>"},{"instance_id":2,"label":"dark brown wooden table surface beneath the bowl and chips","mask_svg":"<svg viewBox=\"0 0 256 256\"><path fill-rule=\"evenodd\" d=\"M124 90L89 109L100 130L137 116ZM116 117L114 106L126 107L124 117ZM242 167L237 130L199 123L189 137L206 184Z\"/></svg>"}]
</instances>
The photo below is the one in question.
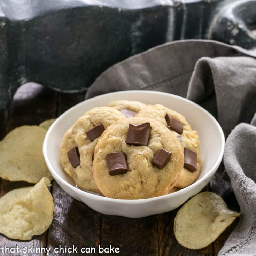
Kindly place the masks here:
<instances>
[{"instance_id":1,"label":"dark brown wooden table surface beneath the bowl and chips","mask_svg":"<svg viewBox=\"0 0 256 256\"><path fill-rule=\"evenodd\" d=\"M84 94L62 94L54 92L42 85L28 83L20 87L14 96L9 109L0 111L0 139L15 127L21 125L38 125L45 119L55 118L73 105L83 101ZM239 210L231 185L222 178L221 166L204 190L209 190L222 196L233 210ZM0 179L0 196L8 191L28 186L25 182L10 182ZM234 229L236 220L211 245L201 250L189 250L175 239L173 220L177 210L140 219L129 219L118 216L99 214L85 204L66 194L53 181L51 187L55 211L50 228L42 235L35 236L30 241L10 240L0 234L0 248L6 247L47 247L51 248L48 255L117 255L99 253L101 247L119 247L118 255L143 256L186 256L186 255L217 255L230 232ZM54 253L54 248L61 245L65 248L94 247L96 253L69 254ZM1 251L0 251L1 254ZM5 253L4 255L44 255L44 253Z\"/></svg>"}]
</instances>

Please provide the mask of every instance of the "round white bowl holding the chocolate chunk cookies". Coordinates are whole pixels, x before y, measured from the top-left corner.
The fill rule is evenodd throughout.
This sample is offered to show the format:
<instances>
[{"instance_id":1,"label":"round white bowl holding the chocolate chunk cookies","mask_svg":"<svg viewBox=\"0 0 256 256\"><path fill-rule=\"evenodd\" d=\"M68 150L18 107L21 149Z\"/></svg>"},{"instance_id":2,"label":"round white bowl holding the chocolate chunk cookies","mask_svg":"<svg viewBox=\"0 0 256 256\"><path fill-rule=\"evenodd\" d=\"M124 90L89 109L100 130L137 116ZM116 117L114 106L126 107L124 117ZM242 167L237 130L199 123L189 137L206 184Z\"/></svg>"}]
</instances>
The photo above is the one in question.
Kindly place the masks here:
<instances>
[{"instance_id":1,"label":"round white bowl holding the chocolate chunk cookies","mask_svg":"<svg viewBox=\"0 0 256 256\"><path fill-rule=\"evenodd\" d=\"M201 142L202 170L190 186L172 194L137 200L112 199L75 187L73 180L60 165L60 145L65 131L87 110L106 106L114 100L137 100L146 104L162 104L185 116ZM140 218L171 211L203 189L216 172L223 157L225 139L216 119L205 109L185 98L154 91L121 91L85 100L62 114L48 130L43 146L46 164L65 192L95 211L108 215Z\"/></svg>"}]
</instances>

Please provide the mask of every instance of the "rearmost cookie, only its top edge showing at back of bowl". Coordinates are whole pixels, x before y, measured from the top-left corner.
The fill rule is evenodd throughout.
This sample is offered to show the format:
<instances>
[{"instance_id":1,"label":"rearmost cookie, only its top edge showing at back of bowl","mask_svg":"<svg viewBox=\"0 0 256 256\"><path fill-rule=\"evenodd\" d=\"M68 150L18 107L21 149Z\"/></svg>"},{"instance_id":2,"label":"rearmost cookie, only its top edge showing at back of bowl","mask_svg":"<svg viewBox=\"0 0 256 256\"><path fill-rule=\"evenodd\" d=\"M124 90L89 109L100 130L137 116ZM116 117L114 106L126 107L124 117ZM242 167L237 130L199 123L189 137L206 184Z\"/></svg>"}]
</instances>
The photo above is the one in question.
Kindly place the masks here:
<instances>
[{"instance_id":1,"label":"rearmost cookie, only its top edge showing at back of bowl","mask_svg":"<svg viewBox=\"0 0 256 256\"><path fill-rule=\"evenodd\" d=\"M110 102L108 106L121 111L126 117L133 117L147 105L139 101L117 100Z\"/></svg>"}]
</instances>

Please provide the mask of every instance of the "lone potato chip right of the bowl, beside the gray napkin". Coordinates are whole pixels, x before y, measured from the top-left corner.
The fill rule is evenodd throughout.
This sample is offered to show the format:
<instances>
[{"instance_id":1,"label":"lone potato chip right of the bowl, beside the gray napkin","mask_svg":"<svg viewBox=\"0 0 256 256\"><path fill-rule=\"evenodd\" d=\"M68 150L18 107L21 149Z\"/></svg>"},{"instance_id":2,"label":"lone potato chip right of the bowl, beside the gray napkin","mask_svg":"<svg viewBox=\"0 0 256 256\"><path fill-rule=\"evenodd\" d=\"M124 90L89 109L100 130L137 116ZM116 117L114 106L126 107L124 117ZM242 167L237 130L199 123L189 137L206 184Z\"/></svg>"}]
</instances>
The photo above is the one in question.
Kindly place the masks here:
<instances>
[{"instance_id":1,"label":"lone potato chip right of the bowl, beside the gray napkin","mask_svg":"<svg viewBox=\"0 0 256 256\"><path fill-rule=\"evenodd\" d=\"M189 249L201 249L212 243L240 213L227 208L222 198L202 192L187 201L174 219L177 241Z\"/></svg>"}]
</instances>

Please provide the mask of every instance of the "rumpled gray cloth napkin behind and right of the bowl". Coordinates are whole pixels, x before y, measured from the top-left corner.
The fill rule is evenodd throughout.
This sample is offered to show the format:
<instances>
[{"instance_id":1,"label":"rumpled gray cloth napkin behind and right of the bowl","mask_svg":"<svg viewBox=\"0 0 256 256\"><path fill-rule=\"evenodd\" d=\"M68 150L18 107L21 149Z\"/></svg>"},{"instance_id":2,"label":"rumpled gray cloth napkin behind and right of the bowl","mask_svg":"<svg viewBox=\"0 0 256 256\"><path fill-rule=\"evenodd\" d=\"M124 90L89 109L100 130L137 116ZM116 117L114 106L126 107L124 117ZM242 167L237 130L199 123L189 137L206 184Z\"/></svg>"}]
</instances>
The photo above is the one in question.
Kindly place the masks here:
<instances>
[{"instance_id":1,"label":"rumpled gray cloth napkin behind and right of the bowl","mask_svg":"<svg viewBox=\"0 0 256 256\"><path fill-rule=\"evenodd\" d=\"M210 40L174 41L103 72L86 98L120 90L177 94L210 111L228 137L224 166L241 209L219 252L256 255L256 50ZM161 103L161 102L160 102Z\"/></svg>"}]
</instances>

